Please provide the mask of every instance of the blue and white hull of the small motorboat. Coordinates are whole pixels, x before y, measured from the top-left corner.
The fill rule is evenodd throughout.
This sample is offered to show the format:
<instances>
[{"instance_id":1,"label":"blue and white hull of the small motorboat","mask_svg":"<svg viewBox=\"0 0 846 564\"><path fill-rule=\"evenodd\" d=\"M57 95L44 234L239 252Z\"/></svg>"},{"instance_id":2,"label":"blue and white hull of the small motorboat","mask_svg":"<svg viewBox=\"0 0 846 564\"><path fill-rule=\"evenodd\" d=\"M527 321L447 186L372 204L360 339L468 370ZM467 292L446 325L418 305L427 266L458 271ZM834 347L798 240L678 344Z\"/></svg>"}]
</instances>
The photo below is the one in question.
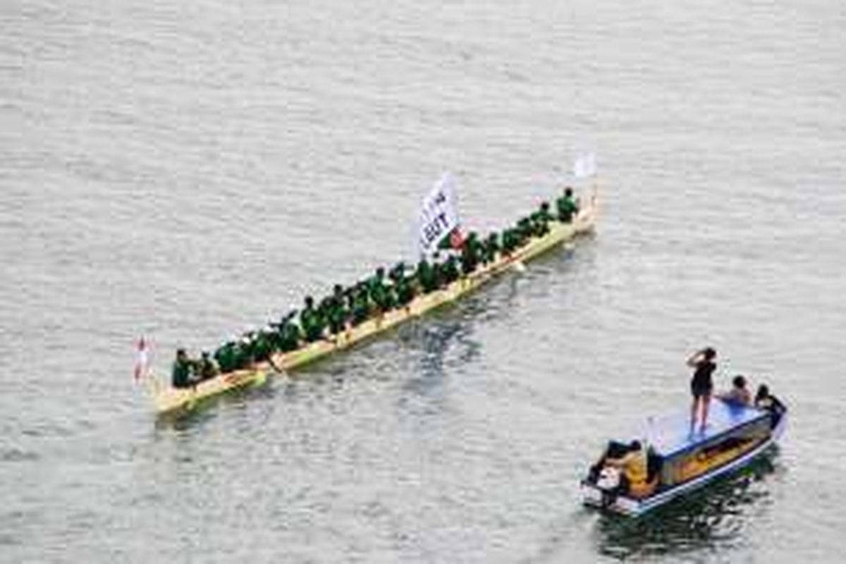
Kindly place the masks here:
<instances>
[{"instance_id":1,"label":"blue and white hull of the small motorboat","mask_svg":"<svg viewBox=\"0 0 846 564\"><path fill-rule=\"evenodd\" d=\"M783 413L778 421L778 424L772 430L772 433L766 438L766 440L761 441L759 445L751 448L749 451L744 452L738 457L733 458L733 460L723 463L717 468L713 468L711 471L701 474L694 479L689 479L682 484L673 486L666 490L658 491L656 494L643 499L634 499L629 496L617 496L613 503L609 504L604 501L604 492L602 489L598 488L596 485L583 482L581 485L582 500L585 505L589 507L596 507L608 512L614 512L629 517L639 517L646 512L650 512L656 507L661 507L662 505L667 504L667 502L673 501L679 496L684 496L692 491L699 490L700 488L710 484L715 479L719 479L728 474L733 474L741 468L749 466L755 458L761 456L761 454L768 451L776 444L781 435L783 435L787 426L787 420L788 414Z\"/></svg>"}]
</instances>

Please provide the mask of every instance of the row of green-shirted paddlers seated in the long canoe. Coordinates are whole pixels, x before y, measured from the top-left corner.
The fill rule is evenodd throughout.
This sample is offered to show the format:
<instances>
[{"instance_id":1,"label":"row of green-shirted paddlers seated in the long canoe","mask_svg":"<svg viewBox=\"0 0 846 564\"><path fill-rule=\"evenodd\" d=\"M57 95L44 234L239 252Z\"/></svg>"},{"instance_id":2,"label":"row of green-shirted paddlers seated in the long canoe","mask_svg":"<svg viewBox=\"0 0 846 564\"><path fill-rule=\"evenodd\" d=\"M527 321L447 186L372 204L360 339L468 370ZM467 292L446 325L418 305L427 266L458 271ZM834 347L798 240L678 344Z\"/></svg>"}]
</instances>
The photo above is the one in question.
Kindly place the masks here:
<instances>
[{"instance_id":1,"label":"row of green-shirted paddlers seated in the long canoe","mask_svg":"<svg viewBox=\"0 0 846 564\"><path fill-rule=\"evenodd\" d=\"M556 200L556 211L553 215L550 205L543 202L538 210L503 233L480 238L471 232L457 248L446 245L431 260L421 259L413 271L400 262L387 273L384 268L377 268L372 277L353 286L336 284L332 293L319 303L306 296L299 311L294 309L265 329L250 331L239 340L224 343L213 355L204 352L200 359L190 359L184 349L179 349L173 363L173 386L195 386L220 373L271 361L274 353L288 353L310 342L335 338L374 316L407 307L415 297L447 287L480 266L489 265L503 255L512 255L532 238L546 235L551 222L572 222L579 212L573 189L565 189Z\"/></svg>"}]
</instances>

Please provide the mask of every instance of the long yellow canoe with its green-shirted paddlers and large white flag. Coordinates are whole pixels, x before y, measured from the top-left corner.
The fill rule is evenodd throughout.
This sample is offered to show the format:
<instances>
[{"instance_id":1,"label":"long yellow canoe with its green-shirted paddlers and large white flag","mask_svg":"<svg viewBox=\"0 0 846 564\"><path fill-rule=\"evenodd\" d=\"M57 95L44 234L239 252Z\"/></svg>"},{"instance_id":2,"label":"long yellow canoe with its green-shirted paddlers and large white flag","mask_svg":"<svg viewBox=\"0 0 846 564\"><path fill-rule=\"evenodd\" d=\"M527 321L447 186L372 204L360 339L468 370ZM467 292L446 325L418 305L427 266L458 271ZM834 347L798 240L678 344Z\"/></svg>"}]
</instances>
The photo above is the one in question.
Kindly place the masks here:
<instances>
[{"instance_id":1,"label":"long yellow canoe with its green-shirted paddlers and large white flag","mask_svg":"<svg viewBox=\"0 0 846 564\"><path fill-rule=\"evenodd\" d=\"M148 378L156 411L190 410L206 398L260 385L270 372L298 368L453 303L503 272L590 232L598 211L596 188L585 200L580 203L567 189L556 201L554 215L544 203L501 234L463 237L452 180L445 176L426 197L420 216L421 254L431 260L420 260L412 273L400 263L389 280L377 269L376 276L352 287L336 286L319 305L306 298L301 311L224 344L213 357L204 353L201 359L190 359L180 350L173 386ZM439 255L445 258L438 260ZM299 324L294 321L297 313Z\"/></svg>"}]
</instances>

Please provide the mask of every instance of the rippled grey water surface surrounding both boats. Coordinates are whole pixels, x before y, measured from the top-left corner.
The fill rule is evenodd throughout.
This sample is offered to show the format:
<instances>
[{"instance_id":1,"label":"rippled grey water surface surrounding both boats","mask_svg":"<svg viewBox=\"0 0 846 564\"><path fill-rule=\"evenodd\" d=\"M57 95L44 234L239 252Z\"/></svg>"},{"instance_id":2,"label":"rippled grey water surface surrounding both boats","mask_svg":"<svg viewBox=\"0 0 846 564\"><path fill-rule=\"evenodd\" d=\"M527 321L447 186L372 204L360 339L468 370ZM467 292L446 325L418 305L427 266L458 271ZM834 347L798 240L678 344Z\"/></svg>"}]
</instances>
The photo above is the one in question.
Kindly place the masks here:
<instances>
[{"instance_id":1,"label":"rippled grey water surface surrounding both boats","mask_svg":"<svg viewBox=\"0 0 846 564\"><path fill-rule=\"evenodd\" d=\"M0 4L0 561L838 561L844 31L836 0ZM413 258L443 171L486 231L585 150L574 248L189 419L133 384L142 333L166 372ZM580 507L706 344L789 403L778 451Z\"/></svg>"}]
</instances>

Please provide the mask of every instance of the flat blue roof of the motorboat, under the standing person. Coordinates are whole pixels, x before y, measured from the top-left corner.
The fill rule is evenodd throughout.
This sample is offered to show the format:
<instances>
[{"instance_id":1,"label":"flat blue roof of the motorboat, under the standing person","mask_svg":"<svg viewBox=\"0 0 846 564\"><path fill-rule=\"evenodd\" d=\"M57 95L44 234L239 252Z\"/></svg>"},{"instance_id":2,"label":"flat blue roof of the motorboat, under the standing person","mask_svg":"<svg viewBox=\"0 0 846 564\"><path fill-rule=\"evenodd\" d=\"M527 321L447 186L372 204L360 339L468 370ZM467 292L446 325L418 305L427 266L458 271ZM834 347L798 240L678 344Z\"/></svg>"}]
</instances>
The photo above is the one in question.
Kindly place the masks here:
<instances>
[{"instance_id":1,"label":"flat blue roof of the motorboat, under the standing person","mask_svg":"<svg viewBox=\"0 0 846 564\"><path fill-rule=\"evenodd\" d=\"M729 430L768 417L765 411L743 405L729 404L719 399L711 401L708 421L704 431L690 430L690 411L674 413L667 417L650 419L642 434L646 441L663 457L672 457L710 441Z\"/></svg>"}]
</instances>

